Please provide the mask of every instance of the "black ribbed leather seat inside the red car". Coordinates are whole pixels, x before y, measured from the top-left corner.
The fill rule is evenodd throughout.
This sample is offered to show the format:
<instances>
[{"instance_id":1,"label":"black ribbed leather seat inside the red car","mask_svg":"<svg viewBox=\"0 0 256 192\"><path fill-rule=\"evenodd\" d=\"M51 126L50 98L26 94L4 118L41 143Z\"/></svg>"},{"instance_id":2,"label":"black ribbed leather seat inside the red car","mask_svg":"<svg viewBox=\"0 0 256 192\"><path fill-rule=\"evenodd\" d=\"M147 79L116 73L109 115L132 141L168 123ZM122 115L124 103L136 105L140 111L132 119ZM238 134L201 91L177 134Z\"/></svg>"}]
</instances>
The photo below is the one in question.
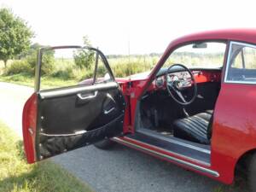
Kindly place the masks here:
<instances>
[{"instance_id":1,"label":"black ribbed leather seat inside the red car","mask_svg":"<svg viewBox=\"0 0 256 192\"><path fill-rule=\"evenodd\" d=\"M174 137L195 143L210 144L212 137L212 110L173 122Z\"/></svg>"}]
</instances>

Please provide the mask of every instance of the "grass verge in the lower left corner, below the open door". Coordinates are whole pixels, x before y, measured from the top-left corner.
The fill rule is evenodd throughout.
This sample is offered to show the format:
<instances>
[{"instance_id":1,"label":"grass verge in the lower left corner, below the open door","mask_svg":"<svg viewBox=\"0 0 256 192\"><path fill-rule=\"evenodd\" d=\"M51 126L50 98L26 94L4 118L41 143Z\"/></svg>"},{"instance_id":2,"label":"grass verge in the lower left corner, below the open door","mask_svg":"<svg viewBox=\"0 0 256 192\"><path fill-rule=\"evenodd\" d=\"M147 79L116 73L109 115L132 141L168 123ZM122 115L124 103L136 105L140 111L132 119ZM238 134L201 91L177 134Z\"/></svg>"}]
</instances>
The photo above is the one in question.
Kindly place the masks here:
<instances>
[{"instance_id":1,"label":"grass verge in the lower left corner, below the open door","mask_svg":"<svg viewBox=\"0 0 256 192\"><path fill-rule=\"evenodd\" d=\"M66 192L92 190L50 160L28 165L20 137L0 122L0 191Z\"/></svg>"}]
</instances>

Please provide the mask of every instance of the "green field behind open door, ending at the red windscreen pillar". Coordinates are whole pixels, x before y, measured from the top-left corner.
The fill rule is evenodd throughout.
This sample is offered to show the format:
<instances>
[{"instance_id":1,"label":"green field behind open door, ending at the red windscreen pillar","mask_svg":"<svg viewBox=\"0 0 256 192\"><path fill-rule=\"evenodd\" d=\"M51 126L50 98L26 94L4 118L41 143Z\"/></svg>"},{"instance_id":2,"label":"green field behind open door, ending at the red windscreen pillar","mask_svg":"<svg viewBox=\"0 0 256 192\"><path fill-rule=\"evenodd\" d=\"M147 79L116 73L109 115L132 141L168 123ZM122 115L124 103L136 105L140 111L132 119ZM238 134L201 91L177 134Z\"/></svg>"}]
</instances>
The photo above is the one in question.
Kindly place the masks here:
<instances>
[{"instance_id":1,"label":"green field behind open door, ending at the red windscreen pillar","mask_svg":"<svg viewBox=\"0 0 256 192\"><path fill-rule=\"evenodd\" d=\"M157 58L150 57L124 57L109 59L110 67L115 77L127 77L131 74L141 73L154 67ZM21 63L22 64L22 63ZM104 76L102 63L99 64L100 75ZM7 73L6 73L7 72ZM49 89L61 86L78 84L81 80L93 78L94 68L77 68L73 61L59 59L55 61L55 68L49 75L43 75L41 88ZM19 61L9 61L7 68L3 68L0 63L0 81L34 85L34 75L27 67L20 66Z\"/></svg>"}]
</instances>

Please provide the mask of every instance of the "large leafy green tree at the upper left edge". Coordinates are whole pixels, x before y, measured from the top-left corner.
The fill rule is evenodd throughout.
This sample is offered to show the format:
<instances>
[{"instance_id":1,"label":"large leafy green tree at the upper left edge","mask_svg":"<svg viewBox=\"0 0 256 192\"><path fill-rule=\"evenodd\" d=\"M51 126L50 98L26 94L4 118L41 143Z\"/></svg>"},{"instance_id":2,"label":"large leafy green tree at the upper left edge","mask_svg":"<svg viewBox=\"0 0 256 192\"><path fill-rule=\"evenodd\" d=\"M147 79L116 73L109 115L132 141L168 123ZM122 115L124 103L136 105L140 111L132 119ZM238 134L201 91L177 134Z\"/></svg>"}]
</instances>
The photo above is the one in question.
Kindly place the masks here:
<instances>
[{"instance_id":1,"label":"large leafy green tree at the upper left edge","mask_svg":"<svg viewBox=\"0 0 256 192\"><path fill-rule=\"evenodd\" d=\"M0 9L0 60L7 61L29 49L33 32L9 9Z\"/></svg>"}]
</instances>

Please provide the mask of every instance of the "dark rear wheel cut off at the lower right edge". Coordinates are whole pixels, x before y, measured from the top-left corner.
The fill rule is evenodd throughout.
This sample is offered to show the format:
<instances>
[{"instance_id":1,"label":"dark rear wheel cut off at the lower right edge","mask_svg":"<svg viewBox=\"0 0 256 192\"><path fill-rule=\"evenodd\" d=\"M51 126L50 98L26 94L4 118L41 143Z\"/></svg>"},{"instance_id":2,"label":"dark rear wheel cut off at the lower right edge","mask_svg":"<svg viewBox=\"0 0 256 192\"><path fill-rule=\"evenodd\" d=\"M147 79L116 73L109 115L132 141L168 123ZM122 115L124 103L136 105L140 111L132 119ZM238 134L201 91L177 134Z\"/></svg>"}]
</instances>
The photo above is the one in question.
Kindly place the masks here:
<instances>
[{"instance_id":1,"label":"dark rear wheel cut off at the lower right edge","mask_svg":"<svg viewBox=\"0 0 256 192\"><path fill-rule=\"evenodd\" d=\"M253 154L248 165L247 182L251 192L256 192L256 154Z\"/></svg>"}]
</instances>

